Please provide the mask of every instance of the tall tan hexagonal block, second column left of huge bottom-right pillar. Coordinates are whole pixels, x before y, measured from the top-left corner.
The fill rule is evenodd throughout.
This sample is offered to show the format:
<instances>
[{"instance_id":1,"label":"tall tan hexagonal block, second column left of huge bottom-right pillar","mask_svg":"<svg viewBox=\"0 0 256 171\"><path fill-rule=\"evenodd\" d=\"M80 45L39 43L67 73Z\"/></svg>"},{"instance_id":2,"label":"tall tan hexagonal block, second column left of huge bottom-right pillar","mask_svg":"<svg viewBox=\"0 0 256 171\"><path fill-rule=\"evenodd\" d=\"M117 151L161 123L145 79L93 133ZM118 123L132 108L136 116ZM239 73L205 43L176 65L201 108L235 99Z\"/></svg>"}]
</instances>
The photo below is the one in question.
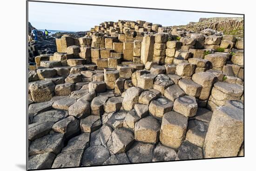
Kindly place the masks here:
<instances>
[{"instance_id":1,"label":"tall tan hexagonal block, second column left of huge bottom-right pillar","mask_svg":"<svg viewBox=\"0 0 256 171\"><path fill-rule=\"evenodd\" d=\"M163 115L160 129L160 141L163 145L177 149L185 139L188 118L176 112Z\"/></svg>"}]
</instances>

